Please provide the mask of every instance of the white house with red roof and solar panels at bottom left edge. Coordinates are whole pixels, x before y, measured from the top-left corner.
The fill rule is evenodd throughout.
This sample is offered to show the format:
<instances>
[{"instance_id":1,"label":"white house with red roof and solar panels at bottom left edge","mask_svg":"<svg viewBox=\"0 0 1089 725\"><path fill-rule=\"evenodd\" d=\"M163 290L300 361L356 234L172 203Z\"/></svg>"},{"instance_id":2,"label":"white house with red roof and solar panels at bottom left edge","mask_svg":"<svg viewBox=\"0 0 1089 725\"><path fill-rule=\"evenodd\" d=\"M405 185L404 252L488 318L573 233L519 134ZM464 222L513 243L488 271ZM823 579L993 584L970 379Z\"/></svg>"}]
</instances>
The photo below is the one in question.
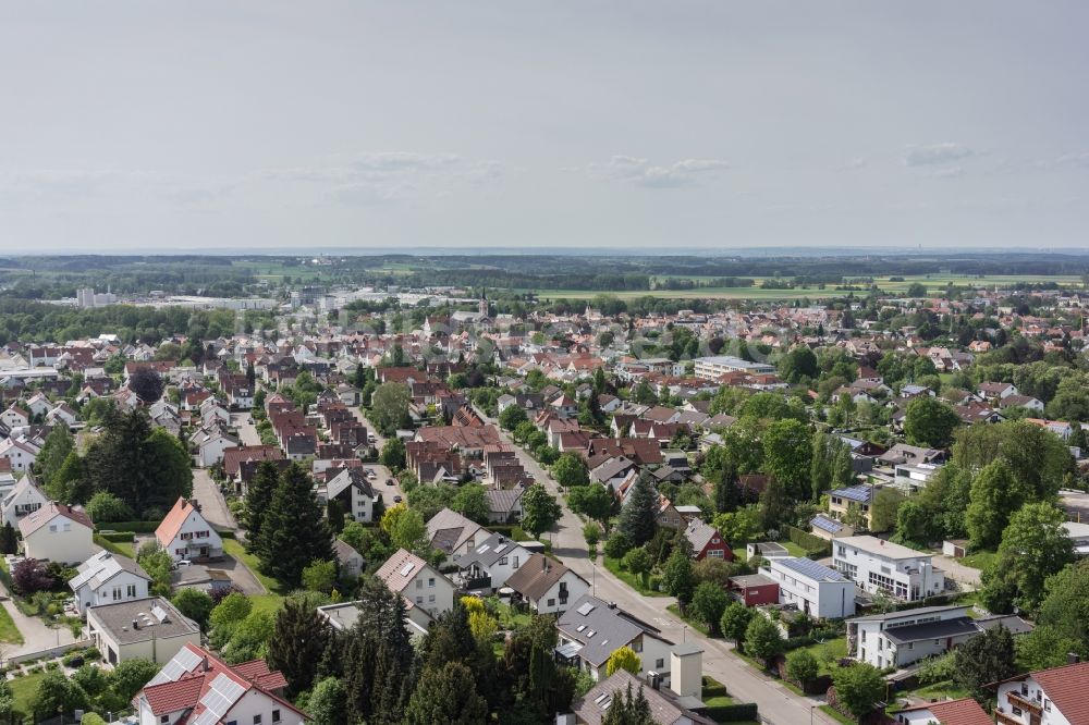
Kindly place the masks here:
<instances>
[{"instance_id":1,"label":"white house with red roof and solar panels at bottom left edge","mask_svg":"<svg viewBox=\"0 0 1089 725\"><path fill-rule=\"evenodd\" d=\"M133 698L139 725L302 725L309 720L283 697L287 680L264 660L229 665L187 643Z\"/></svg>"}]
</instances>

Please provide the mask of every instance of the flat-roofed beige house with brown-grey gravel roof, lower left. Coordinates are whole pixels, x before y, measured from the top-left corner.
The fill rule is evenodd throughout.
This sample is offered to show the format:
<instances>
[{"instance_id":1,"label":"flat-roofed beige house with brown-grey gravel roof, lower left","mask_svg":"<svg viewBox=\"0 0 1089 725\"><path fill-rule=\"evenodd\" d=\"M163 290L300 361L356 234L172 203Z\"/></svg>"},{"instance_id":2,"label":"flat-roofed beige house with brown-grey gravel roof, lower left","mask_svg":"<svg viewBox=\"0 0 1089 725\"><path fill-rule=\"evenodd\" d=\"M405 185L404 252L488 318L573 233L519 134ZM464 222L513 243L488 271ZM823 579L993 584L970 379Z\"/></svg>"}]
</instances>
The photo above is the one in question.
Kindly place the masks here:
<instances>
[{"instance_id":1,"label":"flat-roofed beige house with brown-grey gravel roof, lower left","mask_svg":"<svg viewBox=\"0 0 1089 725\"><path fill-rule=\"evenodd\" d=\"M164 664L186 644L200 644L197 623L163 597L91 606L86 631L111 665L137 659Z\"/></svg>"}]
</instances>

